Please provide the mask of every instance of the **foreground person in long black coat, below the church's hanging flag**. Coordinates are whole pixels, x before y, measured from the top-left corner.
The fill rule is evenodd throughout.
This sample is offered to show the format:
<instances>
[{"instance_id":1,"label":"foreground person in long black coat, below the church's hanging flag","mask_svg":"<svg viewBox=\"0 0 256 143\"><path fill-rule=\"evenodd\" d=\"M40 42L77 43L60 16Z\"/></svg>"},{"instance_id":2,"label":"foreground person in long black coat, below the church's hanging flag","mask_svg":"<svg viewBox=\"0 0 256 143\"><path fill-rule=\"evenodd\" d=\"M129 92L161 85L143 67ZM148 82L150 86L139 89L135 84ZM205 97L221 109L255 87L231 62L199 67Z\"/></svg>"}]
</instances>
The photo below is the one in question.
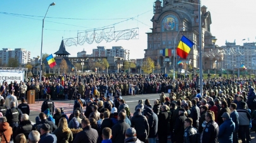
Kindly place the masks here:
<instances>
[{"instance_id":1,"label":"foreground person in long black coat, below the church's hanging flag","mask_svg":"<svg viewBox=\"0 0 256 143\"><path fill-rule=\"evenodd\" d=\"M167 105L161 107L161 111L158 115L158 140L161 143L167 142L168 136L168 123L170 120L169 113L167 112Z\"/></svg>"}]
</instances>

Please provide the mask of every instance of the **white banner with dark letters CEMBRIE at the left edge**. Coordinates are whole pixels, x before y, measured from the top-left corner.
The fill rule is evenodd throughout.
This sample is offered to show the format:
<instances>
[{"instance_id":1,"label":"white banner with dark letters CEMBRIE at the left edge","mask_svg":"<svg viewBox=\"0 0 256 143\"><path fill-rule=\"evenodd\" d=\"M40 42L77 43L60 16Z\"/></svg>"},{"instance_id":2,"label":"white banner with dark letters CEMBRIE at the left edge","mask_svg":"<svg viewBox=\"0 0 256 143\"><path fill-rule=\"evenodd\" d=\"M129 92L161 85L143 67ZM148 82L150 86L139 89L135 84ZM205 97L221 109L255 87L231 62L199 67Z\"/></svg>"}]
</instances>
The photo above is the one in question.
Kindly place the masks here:
<instances>
[{"instance_id":1,"label":"white banner with dark letters CEMBRIE at the left edge","mask_svg":"<svg viewBox=\"0 0 256 143\"><path fill-rule=\"evenodd\" d=\"M3 84L3 81L7 81L8 84L10 84L11 81L13 83L14 81L20 83L20 81L24 81L24 71L0 71L0 84Z\"/></svg>"}]
</instances>

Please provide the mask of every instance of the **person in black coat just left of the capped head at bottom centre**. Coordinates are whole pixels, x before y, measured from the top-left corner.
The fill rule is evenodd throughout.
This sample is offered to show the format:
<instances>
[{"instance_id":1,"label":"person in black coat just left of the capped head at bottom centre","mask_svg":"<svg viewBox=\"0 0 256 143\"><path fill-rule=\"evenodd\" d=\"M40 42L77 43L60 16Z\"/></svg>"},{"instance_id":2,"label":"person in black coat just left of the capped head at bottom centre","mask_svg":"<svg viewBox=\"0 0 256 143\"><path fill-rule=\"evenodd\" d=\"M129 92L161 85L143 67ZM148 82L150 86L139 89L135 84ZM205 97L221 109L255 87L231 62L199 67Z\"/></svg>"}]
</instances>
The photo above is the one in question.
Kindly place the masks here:
<instances>
[{"instance_id":1,"label":"person in black coat just left of the capped head at bottom centre","mask_svg":"<svg viewBox=\"0 0 256 143\"><path fill-rule=\"evenodd\" d=\"M125 113L118 113L118 123L112 127L112 142L120 143L124 142L125 131L130 127L128 123L125 123Z\"/></svg>"}]
</instances>

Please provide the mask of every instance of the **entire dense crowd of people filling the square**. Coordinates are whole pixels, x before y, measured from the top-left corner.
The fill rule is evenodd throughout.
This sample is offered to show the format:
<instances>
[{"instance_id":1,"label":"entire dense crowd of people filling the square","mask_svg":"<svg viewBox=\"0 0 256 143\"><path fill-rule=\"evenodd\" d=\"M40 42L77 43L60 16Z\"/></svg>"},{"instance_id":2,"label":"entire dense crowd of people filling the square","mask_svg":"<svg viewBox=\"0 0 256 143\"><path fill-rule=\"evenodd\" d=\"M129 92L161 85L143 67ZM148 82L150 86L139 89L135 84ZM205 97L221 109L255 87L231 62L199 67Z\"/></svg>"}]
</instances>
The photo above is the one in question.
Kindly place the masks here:
<instances>
[{"instance_id":1,"label":"entire dense crowd of people filling the square","mask_svg":"<svg viewBox=\"0 0 256 143\"><path fill-rule=\"evenodd\" d=\"M238 137L250 142L250 131L256 128L254 79L204 79L203 94L196 89L198 77L173 81L160 74L65 75L63 85L60 79L44 77L40 83L36 77L27 85L21 83L27 89L22 93L20 86L16 94L16 82L4 84L8 90L1 86L2 142L162 143L170 138L172 142L226 143L238 142ZM37 86L38 98L46 101L31 125L25 97L28 88ZM150 93L160 93L160 98L152 105L141 99L134 111L122 99ZM17 95L22 97L19 106ZM75 97L74 113L67 117L63 108L55 108L51 97Z\"/></svg>"}]
</instances>

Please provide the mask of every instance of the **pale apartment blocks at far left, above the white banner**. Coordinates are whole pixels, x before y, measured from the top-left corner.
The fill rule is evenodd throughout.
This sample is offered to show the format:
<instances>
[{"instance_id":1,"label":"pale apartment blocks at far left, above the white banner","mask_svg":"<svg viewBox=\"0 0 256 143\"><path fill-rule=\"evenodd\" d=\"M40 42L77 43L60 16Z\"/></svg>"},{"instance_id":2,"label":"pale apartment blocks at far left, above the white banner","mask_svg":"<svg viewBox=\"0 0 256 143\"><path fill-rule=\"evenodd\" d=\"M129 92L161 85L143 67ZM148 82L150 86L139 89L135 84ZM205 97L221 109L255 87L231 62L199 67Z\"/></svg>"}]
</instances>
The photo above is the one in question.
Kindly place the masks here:
<instances>
[{"instance_id":1,"label":"pale apartment blocks at far left, above the white banner","mask_svg":"<svg viewBox=\"0 0 256 143\"><path fill-rule=\"evenodd\" d=\"M11 57L17 59L20 64L27 64L30 62L30 52L26 49L0 50L1 64L8 64L8 61Z\"/></svg>"}]
</instances>

